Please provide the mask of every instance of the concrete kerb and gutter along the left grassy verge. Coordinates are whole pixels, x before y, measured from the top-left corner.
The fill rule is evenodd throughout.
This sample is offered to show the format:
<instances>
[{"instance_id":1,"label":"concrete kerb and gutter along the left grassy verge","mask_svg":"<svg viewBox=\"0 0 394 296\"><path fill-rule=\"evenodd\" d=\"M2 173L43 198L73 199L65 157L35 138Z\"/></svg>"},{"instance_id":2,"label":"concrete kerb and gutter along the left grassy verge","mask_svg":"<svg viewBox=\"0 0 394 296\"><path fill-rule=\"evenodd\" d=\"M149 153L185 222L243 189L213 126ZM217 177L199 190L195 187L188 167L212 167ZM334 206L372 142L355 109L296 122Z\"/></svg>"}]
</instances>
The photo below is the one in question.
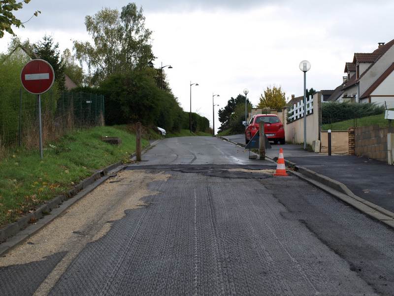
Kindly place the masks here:
<instances>
[{"instance_id":1,"label":"concrete kerb and gutter along the left grassy verge","mask_svg":"<svg viewBox=\"0 0 394 296\"><path fill-rule=\"evenodd\" d=\"M161 140L157 140L152 144L149 144L142 152L146 152L160 141ZM135 153L133 153L130 158L134 156ZM56 196L55 198L46 201L33 213L29 213L21 217L17 222L10 223L0 229L0 242L2 242L0 243L0 257L4 256L17 245L23 243L35 232L45 227L48 223L65 212L71 205L92 192L109 178L114 177L126 166L127 164L123 165L122 162L117 162L102 170L98 170L92 176L81 181L74 188L66 192L66 194Z\"/></svg>"}]
</instances>

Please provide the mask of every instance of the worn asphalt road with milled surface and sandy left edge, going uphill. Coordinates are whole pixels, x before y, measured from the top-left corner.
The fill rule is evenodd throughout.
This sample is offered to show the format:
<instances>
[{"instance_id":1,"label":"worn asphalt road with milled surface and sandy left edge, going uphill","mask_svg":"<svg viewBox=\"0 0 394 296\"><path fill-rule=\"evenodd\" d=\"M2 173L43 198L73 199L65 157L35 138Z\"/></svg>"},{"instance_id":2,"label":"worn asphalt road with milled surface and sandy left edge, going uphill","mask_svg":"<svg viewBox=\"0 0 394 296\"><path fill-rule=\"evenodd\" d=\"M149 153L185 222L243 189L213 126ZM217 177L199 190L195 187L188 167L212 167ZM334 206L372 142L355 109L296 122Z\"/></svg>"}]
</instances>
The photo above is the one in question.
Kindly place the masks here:
<instances>
[{"instance_id":1,"label":"worn asphalt road with milled surface and sandy left edge, going uphill","mask_svg":"<svg viewBox=\"0 0 394 296\"><path fill-rule=\"evenodd\" d=\"M211 137L143 160L1 258L0 295L393 295L394 231L272 163Z\"/></svg>"}]
</instances>

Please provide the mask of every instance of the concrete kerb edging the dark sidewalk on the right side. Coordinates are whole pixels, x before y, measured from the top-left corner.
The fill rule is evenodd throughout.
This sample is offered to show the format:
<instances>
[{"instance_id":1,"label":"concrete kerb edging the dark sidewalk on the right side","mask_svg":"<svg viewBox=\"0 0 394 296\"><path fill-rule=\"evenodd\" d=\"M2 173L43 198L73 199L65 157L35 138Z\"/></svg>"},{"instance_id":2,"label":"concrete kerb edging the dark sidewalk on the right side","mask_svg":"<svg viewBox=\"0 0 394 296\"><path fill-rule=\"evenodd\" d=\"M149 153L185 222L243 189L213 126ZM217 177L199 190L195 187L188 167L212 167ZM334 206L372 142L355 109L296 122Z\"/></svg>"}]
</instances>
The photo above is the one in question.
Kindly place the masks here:
<instances>
[{"instance_id":1,"label":"concrete kerb edging the dark sidewalk on the right side","mask_svg":"<svg viewBox=\"0 0 394 296\"><path fill-rule=\"evenodd\" d=\"M218 137L237 146L245 147L241 143L235 143L225 137ZM276 162L277 157L270 158L265 156L267 160ZM296 163L285 159L286 166L292 170L292 173L298 178L326 191L343 202L355 207L362 213L394 228L394 213L390 212L374 203L371 203L360 196L354 194L345 184L318 174L310 169L298 166Z\"/></svg>"}]
</instances>

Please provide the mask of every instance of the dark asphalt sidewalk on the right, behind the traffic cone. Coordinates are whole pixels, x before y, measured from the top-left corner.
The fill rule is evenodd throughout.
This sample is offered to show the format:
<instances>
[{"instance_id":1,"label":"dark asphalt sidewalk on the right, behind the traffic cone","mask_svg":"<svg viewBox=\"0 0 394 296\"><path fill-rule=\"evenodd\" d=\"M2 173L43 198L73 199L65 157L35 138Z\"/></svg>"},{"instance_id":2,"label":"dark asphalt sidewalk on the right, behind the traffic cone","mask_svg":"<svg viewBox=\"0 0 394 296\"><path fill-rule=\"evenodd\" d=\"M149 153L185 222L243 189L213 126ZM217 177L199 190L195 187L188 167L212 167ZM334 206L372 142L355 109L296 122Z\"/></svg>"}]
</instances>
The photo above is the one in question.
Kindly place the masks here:
<instances>
[{"instance_id":1,"label":"dark asphalt sidewalk on the right, behind the traffic cone","mask_svg":"<svg viewBox=\"0 0 394 296\"><path fill-rule=\"evenodd\" d=\"M243 134L226 138L240 144L245 141ZM339 181L361 198L394 212L394 166L363 156L304 151L299 145L272 145L266 156L278 157L279 148L286 160Z\"/></svg>"}]
</instances>

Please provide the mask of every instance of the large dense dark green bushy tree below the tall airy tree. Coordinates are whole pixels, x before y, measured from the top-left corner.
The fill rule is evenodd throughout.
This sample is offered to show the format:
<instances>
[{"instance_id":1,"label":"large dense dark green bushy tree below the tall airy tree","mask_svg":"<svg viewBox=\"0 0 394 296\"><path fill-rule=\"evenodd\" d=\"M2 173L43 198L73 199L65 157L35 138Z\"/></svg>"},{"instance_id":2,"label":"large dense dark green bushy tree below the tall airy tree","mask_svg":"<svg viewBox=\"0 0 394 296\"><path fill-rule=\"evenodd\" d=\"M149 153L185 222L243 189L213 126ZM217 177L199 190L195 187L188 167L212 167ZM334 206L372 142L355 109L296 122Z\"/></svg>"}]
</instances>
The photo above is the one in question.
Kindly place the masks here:
<instances>
[{"instance_id":1,"label":"large dense dark green bushy tree below the tall airy tree","mask_svg":"<svg viewBox=\"0 0 394 296\"><path fill-rule=\"evenodd\" d=\"M112 74L100 84L105 95L105 122L127 124L140 121L145 126L179 130L182 108L176 98L156 86L155 69L145 68Z\"/></svg>"}]
</instances>

